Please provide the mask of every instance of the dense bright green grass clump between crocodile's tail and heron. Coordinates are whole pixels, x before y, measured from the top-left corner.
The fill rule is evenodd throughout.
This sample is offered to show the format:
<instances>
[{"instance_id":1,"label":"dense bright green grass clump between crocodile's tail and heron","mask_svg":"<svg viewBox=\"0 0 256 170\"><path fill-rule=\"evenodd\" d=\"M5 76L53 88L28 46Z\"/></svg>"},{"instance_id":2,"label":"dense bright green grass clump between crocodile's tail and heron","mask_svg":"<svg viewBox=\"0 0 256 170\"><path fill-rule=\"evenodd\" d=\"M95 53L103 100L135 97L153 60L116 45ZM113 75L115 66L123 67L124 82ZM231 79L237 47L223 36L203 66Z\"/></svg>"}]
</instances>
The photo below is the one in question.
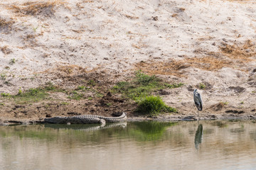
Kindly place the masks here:
<instances>
[{"instance_id":1,"label":"dense bright green grass clump between crocodile's tail and heron","mask_svg":"<svg viewBox=\"0 0 256 170\"><path fill-rule=\"evenodd\" d=\"M149 115L156 115L157 113L171 113L177 112L176 108L166 106L164 101L159 96L147 96L139 101L137 111Z\"/></svg>"}]
</instances>

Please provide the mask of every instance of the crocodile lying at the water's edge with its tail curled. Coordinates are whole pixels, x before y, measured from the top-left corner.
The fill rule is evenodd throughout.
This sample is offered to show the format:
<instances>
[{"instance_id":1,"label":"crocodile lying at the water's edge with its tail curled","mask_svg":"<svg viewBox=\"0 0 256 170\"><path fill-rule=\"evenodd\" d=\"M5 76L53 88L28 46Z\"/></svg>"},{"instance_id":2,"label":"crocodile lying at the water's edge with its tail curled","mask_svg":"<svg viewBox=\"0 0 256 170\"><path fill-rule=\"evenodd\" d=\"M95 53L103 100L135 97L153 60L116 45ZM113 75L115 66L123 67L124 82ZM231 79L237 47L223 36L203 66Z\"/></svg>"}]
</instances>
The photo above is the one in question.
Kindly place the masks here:
<instances>
[{"instance_id":1,"label":"crocodile lying at the water's edge with its tail curled","mask_svg":"<svg viewBox=\"0 0 256 170\"><path fill-rule=\"evenodd\" d=\"M120 114L120 113L119 113ZM127 114L122 112L118 117L105 117L101 115L74 115L65 117L45 118L45 123L58 123L58 124L87 124L87 123L119 123L127 120Z\"/></svg>"}]
</instances>

